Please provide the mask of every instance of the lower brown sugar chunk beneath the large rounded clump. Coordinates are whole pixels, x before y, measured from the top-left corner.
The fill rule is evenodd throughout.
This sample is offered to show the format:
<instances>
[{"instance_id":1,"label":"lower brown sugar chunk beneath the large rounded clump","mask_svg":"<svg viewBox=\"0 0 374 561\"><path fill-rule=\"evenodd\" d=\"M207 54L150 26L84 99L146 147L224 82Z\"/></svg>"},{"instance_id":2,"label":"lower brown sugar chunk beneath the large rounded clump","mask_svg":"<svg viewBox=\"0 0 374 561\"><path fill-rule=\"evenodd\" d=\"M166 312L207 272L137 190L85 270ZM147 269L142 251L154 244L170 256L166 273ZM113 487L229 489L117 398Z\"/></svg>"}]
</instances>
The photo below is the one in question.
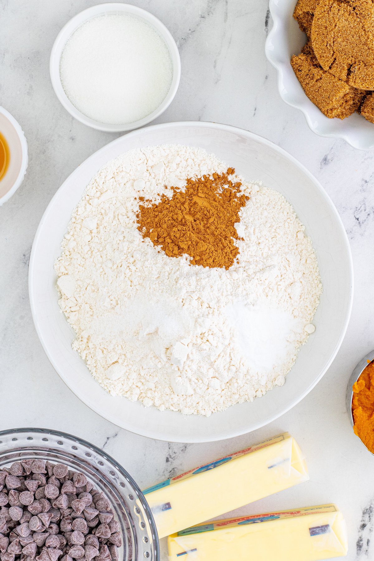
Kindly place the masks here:
<instances>
[{"instance_id":1,"label":"lower brown sugar chunk beneath the large rounded clump","mask_svg":"<svg viewBox=\"0 0 374 561\"><path fill-rule=\"evenodd\" d=\"M357 111L366 92L352 88L321 68L308 42L291 66L308 98L326 117L344 119Z\"/></svg>"}]
</instances>

